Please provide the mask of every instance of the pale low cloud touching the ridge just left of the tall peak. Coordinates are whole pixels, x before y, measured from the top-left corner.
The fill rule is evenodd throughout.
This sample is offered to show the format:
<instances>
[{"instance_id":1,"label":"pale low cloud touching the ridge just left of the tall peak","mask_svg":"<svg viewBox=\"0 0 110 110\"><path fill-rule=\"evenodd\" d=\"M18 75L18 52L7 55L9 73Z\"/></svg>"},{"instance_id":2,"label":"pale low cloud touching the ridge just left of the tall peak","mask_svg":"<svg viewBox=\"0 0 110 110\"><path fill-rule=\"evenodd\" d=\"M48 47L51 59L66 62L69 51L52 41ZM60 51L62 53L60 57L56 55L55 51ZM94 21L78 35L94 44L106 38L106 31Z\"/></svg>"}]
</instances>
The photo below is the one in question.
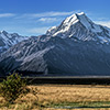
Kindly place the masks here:
<instances>
[{"instance_id":1,"label":"pale low cloud touching the ridge just left of the tall peak","mask_svg":"<svg viewBox=\"0 0 110 110\"><path fill-rule=\"evenodd\" d=\"M50 29L48 26L34 28L34 29L28 30L28 32L30 32L32 34L45 34L48 29Z\"/></svg>"}]
</instances>

